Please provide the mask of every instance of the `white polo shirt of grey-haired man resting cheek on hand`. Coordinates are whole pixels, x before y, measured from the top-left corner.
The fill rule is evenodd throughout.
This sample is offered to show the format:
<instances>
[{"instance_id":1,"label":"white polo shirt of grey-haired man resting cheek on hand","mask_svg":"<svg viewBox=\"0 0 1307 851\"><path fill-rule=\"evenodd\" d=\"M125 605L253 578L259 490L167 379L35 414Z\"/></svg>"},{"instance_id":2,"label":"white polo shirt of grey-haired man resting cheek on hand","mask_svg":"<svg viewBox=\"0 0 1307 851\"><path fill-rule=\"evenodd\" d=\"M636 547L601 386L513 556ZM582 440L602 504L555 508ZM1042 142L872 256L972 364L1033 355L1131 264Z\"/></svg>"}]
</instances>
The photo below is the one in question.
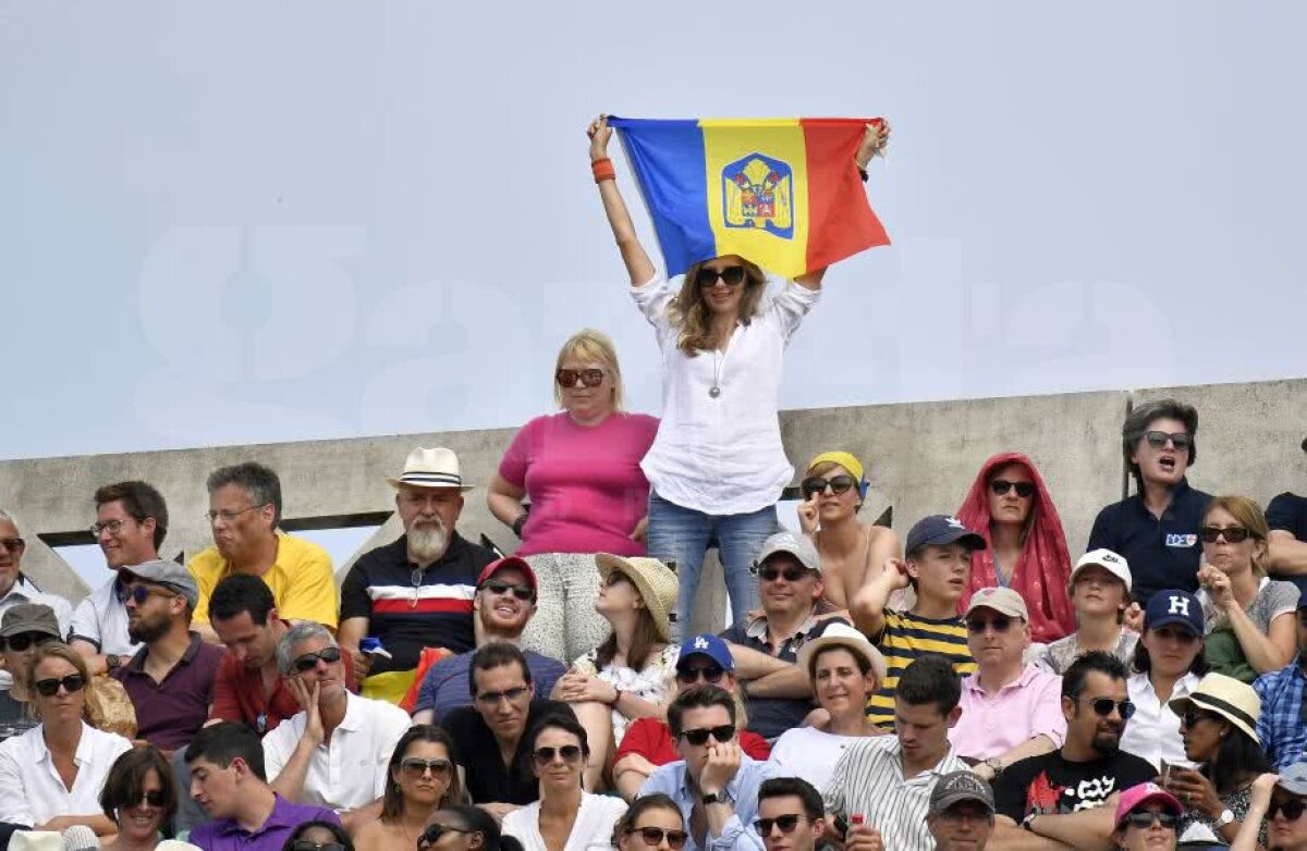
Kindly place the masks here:
<instances>
[{"instance_id":1,"label":"white polo shirt of grey-haired man resting cheek on hand","mask_svg":"<svg viewBox=\"0 0 1307 851\"><path fill-rule=\"evenodd\" d=\"M308 762L301 804L345 811L371 804L386 792L386 766L412 719L386 701L350 692L345 693L345 718L331 739L318 745ZM264 736L263 760L269 782L277 779L290 761L306 720L305 713L297 713Z\"/></svg>"}]
</instances>

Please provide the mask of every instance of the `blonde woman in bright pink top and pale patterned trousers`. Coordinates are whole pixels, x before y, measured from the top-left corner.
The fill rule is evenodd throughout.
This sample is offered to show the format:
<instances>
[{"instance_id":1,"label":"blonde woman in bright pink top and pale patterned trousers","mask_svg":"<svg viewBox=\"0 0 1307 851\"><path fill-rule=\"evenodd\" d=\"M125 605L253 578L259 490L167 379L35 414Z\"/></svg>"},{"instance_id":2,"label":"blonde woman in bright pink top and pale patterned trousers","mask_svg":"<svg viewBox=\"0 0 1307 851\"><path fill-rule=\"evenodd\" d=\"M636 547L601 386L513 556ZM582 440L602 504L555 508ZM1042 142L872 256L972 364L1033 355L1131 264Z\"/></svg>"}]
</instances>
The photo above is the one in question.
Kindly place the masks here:
<instances>
[{"instance_id":1,"label":"blonde woman in bright pink top and pale patterned trousers","mask_svg":"<svg viewBox=\"0 0 1307 851\"><path fill-rule=\"evenodd\" d=\"M486 501L521 538L515 555L538 580L538 608L523 646L575 659L608 632L591 611L593 553L644 555L650 483L640 458L657 419L622 410L617 350L588 328L558 351L554 401L561 412L537 416L512 439Z\"/></svg>"}]
</instances>

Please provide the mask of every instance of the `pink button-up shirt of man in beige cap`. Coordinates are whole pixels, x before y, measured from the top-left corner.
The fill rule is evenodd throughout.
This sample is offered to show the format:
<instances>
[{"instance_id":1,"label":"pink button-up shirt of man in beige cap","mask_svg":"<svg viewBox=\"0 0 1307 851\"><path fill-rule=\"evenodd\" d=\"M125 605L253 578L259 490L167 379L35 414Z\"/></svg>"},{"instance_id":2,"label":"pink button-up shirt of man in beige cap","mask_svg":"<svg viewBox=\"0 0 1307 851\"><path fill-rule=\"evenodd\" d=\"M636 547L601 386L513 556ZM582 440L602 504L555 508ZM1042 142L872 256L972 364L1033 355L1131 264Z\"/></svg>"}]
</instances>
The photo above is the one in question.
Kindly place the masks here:
<instances>
[{"instance_id":1,"label":"pink button-up shirt of man in beige cap","mask_svg":"<svg viewBox=\"0 0 1307 851\"><path fill-rule=\"evenodd\" d=\"M1067 739L1061 677L1033 664L997 694L980 688L979 672L963 677L959 706L962 718L949 731L949 741L965 757L997 757L1040 735L1057 748Z\"/></svg>"}]
</instances>

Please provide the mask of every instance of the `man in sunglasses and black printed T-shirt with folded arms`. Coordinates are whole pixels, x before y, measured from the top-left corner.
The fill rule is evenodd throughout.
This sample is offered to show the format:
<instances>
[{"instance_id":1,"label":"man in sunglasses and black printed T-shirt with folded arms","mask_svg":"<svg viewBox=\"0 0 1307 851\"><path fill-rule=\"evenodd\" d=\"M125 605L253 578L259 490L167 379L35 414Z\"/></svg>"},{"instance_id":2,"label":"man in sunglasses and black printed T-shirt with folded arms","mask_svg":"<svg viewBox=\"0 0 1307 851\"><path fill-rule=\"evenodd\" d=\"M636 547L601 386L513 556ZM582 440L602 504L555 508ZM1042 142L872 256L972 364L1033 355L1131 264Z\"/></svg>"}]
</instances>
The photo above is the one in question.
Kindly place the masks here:
<instances>
[{"instance_id":1,"label":"man in sunglasses and black printed T-shirt with folded arms","mask_svg":"<svg viewBox=\"0 0 1307 851\"><path fill-rule=\"evenodd\" d=\"M1000 848L1082 847L1086 841L1107 847L1116 825L1112 807L1103 804L1157 775L1150 762L1120 749L1134 705L1119 659L1086 653L1067 670L1061 693L1063 747L1008 766L993 782L993 844Z\"/></svg>"}]
</instances>

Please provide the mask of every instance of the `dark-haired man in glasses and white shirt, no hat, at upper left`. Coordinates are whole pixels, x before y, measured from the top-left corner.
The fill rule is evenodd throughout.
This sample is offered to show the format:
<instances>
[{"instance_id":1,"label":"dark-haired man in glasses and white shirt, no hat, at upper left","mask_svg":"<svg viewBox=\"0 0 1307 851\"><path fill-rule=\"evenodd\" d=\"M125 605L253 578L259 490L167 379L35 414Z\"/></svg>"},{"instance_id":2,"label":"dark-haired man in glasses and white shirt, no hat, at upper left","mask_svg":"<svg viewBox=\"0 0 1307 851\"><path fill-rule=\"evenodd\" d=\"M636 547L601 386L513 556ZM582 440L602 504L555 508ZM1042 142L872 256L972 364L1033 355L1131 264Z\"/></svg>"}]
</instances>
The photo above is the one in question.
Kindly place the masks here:
<instances>
[{"instance_id":1,"label":"dark-haired man in glasses and white shirt, no hat, at upper left","mask_svg":"<svg viewBox=\"0 0 1307 851\"><path fill-rule=\"evenodd\" d=\"M95 491L95 523L90 530L115 576L73 610L68 643L86 657L91 673L106 673L141 649L127 634L125 581L119 570L158 560L167 535L167 504L144 482L106 484Z\"/></svg>"}]
</instances>

